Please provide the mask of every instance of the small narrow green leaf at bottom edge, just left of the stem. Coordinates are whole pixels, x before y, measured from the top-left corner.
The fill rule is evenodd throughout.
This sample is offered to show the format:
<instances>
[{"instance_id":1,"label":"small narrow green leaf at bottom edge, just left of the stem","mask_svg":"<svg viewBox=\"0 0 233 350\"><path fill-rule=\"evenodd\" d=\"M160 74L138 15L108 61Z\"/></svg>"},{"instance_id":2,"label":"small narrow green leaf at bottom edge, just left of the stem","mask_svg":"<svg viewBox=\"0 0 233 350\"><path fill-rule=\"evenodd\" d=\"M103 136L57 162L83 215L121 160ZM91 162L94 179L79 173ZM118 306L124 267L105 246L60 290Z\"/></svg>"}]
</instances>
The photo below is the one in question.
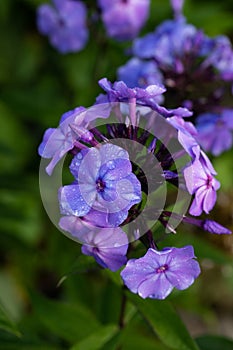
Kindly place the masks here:
<instances>
[{"instance_id":1,"label":"small narrow green leaf at bottom edge, just left of the stem","mask_svg":"<svg viewBox=\"0 0 233 350\"><path fill-rule=\"evenodd\" d=\"M100 327L89 337L76 343L71 350L99 350L116 335L117 331L118 327L115 325Z\"/></svg>"}]
</instances>

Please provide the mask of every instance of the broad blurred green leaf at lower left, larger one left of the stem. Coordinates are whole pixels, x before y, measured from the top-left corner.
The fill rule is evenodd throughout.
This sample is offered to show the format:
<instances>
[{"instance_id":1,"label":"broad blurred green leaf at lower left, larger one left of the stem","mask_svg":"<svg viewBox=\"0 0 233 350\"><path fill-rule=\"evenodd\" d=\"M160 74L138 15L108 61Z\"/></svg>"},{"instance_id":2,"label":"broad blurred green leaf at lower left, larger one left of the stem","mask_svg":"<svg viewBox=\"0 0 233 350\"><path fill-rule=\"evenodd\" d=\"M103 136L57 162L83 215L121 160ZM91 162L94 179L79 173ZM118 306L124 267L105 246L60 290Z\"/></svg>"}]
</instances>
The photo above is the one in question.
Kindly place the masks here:
<instances>
[{"instance_id":1,"label":"broad blurred green leaf at lower left, larger one left of the stem","mask_svg":"<svg viewBox=\"0 0 233 350\"><path fill-rule=\"evenodd\" d=\"M33 295L33 307L41 323L53 334L75 343L98 329L99 322L84 305Z\"/></svg>"}]
</instances>

